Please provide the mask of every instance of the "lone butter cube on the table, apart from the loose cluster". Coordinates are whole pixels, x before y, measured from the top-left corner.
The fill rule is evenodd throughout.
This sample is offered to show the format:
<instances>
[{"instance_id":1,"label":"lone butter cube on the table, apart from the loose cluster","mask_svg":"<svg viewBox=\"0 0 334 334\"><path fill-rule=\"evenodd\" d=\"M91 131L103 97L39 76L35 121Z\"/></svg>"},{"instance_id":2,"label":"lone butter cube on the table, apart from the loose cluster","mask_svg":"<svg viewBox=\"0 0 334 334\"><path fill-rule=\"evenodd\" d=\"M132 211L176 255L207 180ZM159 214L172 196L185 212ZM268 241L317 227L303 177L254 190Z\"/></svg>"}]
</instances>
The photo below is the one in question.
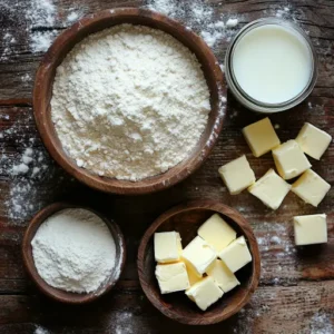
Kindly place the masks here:
<instances>
[{"instance_id":1,"label":"lone butter cube on the table, apart from the loose cluster","mask_svg":"<svg viewBox=\"0 0 334 334\"><path fill-rule=\"evenodd\" d=\"M326 215L296 216L294 230L297 246L327 243Z\"/></svg>"}]
</instances>

